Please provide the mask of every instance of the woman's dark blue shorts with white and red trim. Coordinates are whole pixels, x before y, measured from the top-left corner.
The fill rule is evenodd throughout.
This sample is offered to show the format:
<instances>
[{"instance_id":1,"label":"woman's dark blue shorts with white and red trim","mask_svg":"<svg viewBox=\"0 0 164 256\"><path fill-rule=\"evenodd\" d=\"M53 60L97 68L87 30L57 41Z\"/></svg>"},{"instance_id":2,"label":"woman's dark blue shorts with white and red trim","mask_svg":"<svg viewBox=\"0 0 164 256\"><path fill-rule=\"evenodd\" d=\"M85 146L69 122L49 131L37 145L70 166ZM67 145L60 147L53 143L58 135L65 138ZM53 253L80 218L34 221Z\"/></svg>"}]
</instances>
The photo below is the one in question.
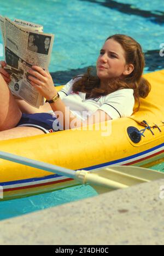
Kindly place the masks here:
<instances>
[{"instance_id":1,"label":"woman's dark blue shorts with white and red trim","mask_svg":"<svg viewBox=\"0 0 164 256\"><path fill-rule=\"evenodd\" d=\"M22 117L16 127L20 126L30 126L38 128L44 133L51 133L63 130L56 116L49 113L22 114Z\"/></svg>"}]
</instances>

